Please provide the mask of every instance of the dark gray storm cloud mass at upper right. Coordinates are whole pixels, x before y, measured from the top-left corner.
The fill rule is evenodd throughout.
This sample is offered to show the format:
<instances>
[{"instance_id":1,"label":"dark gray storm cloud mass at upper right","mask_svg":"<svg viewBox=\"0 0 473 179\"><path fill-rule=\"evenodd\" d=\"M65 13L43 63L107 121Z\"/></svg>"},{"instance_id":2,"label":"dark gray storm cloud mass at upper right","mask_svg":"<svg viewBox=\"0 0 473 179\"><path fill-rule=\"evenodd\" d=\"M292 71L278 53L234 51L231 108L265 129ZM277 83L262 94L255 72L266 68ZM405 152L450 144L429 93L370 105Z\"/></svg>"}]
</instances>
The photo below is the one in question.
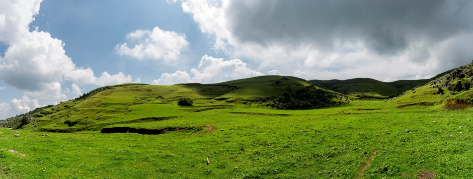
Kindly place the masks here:
<instances>
[{"instance_id":1,"label":"dark gray storm cloud mass at upper right","mask_svg":"<svg viewBox=\"0 0 473 179\"><path fill-rule=\"evenodd\" d=\"M473 27L471 0L234 0L229 29L242 43L363 43L380 55L396 55L412 43L434 45Z\"/></svg>"}]
</instances>

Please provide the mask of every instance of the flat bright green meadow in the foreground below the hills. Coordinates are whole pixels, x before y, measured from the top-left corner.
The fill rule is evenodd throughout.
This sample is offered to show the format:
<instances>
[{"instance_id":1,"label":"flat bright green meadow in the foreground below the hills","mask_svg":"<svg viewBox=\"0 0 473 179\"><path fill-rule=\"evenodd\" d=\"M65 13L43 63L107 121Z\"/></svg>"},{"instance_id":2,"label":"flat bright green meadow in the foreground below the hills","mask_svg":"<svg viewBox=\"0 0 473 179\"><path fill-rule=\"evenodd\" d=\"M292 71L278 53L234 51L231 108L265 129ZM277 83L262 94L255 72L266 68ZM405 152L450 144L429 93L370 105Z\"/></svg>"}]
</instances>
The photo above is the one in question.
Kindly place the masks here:
<instances>
[{"instance_id":1,"label":"flat bright green meadow in the foreground below the hills","mask_svg":"<svg viewBox=\"0 0 473 179\"><path fill-rule=\"evenodd\" d=\"M0 128L0 178L473 178L471 108L396 108L380 100L313 110L141 105L150 106L130 107L134 118L168 117L105 121L104 129L155 135Z\"/></svg>"}]
</instances>

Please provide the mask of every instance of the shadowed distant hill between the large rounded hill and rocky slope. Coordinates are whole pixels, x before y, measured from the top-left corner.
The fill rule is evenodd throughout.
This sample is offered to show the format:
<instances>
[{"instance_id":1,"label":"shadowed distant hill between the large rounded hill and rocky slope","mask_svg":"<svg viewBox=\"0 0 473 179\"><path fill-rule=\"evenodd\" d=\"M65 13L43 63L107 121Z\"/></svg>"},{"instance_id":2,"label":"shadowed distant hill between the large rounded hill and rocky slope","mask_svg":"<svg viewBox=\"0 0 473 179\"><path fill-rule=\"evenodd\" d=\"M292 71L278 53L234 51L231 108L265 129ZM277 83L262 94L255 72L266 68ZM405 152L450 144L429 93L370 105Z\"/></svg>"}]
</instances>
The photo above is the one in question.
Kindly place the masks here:
<instances>
[{"instance_id":1,"label":"shadowed distant hill between the large rounded hill and rocky slope","mask_svg":"<svg viewBox=\"0 0 473 179\"><path fill-rule=\"evenodd\" d=\"M448 72L426 80L381 82L369 78L356 78L349 80L311 80L311 82L342 94L353 95L360 98L391 98L402 94L402 92L406 90L424 85L446 73Z\"/></svg>"}]
</instances>

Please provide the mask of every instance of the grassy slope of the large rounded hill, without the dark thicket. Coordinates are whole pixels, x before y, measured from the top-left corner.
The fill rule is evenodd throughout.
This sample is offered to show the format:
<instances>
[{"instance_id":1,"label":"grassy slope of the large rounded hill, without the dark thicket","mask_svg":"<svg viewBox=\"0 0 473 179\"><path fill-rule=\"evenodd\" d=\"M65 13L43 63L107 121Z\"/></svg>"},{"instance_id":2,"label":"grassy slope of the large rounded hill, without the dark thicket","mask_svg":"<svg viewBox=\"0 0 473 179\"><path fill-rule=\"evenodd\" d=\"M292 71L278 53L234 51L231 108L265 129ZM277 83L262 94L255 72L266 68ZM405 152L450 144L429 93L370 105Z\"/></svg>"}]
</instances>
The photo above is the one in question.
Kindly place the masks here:
<instances>
[{"instance_id":1,"label":"grassy slope of the large rounded hill, without the dark thicket","mask_svg":"<svg viewBox=\"0 0 473 179\"><path fill-rule=\"evenodd\" d=\"M143 123L134 126L144 125L153 129L203 128L203 126L171 124L148 125L148 122L178 117L182 110L205 111L233 107L238 105L236 103L238 101L245 101L244 104L247 105L263 106L272 102L265 101L264 97L280 95L287 88L296 90L309 85L313 84L302 79L281 76L254 77L210 85L123 84L100 88L86 97L62 102L29 114L36 120L26 128L50 132L77 132L101 130L105 126L131 126L130 123ZM192 98L194 106L178 107L176 100L183 96Z\"/></svg>"}]
</instances>

